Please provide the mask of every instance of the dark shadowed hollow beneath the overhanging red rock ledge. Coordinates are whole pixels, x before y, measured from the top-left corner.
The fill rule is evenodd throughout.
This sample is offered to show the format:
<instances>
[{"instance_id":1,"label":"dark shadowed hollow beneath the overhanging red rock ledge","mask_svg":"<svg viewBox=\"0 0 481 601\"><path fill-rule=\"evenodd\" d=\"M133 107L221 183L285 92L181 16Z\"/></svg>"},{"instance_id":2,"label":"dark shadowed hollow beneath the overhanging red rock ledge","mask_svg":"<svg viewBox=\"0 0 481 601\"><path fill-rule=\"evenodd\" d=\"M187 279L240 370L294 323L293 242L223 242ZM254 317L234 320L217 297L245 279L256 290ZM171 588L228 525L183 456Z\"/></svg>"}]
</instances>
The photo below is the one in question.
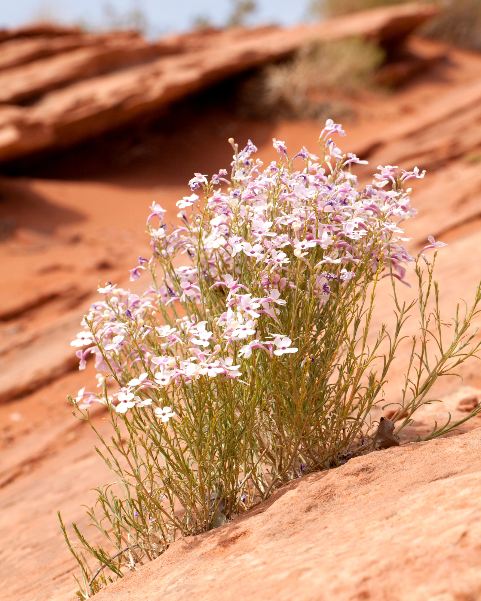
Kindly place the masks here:
<instances>
[{"instance_id":1,"label":"dark shadowed hollow beneath the overhanging red rock ledge","mask_svg":"<svg viewBox=\"0 0 481 601\"><path fill-rule=\"evenodd\" d=\"M7 175L97 180L126 187L185 185L194 172L230 169L233 137L242 148L272 138L275 119L244 118L237 107L239 79L230 79L112 130L51 153L0 166Z\"/></svg>"}]
</instances>

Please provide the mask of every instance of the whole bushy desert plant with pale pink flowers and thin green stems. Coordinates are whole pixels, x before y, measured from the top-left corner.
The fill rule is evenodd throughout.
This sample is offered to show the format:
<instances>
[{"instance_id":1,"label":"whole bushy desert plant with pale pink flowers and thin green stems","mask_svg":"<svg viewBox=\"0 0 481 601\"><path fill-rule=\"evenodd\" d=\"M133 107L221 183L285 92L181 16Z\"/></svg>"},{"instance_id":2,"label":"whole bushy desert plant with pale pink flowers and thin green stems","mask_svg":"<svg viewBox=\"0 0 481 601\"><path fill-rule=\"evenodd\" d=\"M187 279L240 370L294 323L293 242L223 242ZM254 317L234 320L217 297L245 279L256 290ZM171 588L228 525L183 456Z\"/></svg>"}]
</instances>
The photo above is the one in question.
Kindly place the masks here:
<instances>
[{"instance_id":1,"label":"whole bushy desert plant with pale pink flowers and thin green stems","mask_svg":"<svg viewBox=\"0 0 481 601\"><path fill-rule=\"evenodd\" d=\"M334 135L344 132L328 120L320 157L305 148L289 157L274 139L280 160L267 168L252 158L252 142L239 151L230 139L230 178L225 170L210 180L195 174L192 194L177 203L179 225L169 229L164 209L151 207L152 257L130 270L131 280L149 273L143 296L109 282L99 288L102 300L72 345L81 369L95 355L101 392L82 389L70 400L86 421L93 403L105 404L113 434L97 432L97 451L115 482L97 489L97 510L88 511L105 549L75 525L72 546L62 525L81 567L81 598L292 478L372 450L370 410L415 305L420 334L393 416L397 433L431 400L437 378L476 353L480 343L468 330L481 287L464 317L458 310L446 344L435 261L422 255L424 269L419 262L444 244L429 237L412 258L401 243L402 222L416 213L403 186L424 172L380 167L372 185L358 189L351 166L365 162L343 154ZM187 264L179 266L180 257ZM395 284L406 283L413 262L418 298L400 304ZM396 325L373 333L384 277ZM108 382L118 387L112 395ZM458 425L436 426L427 438ZM87 555L99 564L90 567Z\"/></svg>"}]
</instances>

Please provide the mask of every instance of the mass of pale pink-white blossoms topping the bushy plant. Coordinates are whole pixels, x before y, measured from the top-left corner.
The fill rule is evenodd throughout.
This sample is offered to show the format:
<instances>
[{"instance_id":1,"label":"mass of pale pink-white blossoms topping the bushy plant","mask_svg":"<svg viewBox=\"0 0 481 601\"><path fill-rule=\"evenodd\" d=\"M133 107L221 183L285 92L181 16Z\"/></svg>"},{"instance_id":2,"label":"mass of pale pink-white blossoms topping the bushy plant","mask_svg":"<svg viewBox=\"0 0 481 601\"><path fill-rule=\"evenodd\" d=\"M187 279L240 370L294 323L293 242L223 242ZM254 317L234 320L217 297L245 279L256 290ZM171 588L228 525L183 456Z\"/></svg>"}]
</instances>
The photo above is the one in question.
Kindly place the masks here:
<instances>
[{"instance_id":1,"label":"mass of pale pink-white blossoms topping the bushy plant","mask_svg":"<svg viewBox=\"0 0 481 601\"><path fill-rule=\"evenodd\" d=\"M88 347L77 351L80 369L93 353L97 370L117 380L117 412L168 402L161 411L166 421L175 415L173 391L192 380L239 378L239 362L255 352L270 359L296 353L281 314L299 288L299 266L308 269L303 294L321 307L334 290L341 294L366 278L366 269L375 273L390 264L394 277L404 280L413 259L400 244L406 240L400 224L416 210L403 185L424 172L379 166L373 183L358 190L351 166L366 161L343 154L334 134L345 135L328 120L320 159L305 147L291 159L284 142L274 139L281 157L267 168L253 160L257 148L251 141L239 151L230 139L231 181L225 169L210 181L196 173L189 182L193 193L177 203L180 225L169 230L165 210L156 203L150 207L152 257L139 257L130 279L149 270L153 283L142 297L110 282L100 287L104 299L91 305L85 331L72 342ZM203 201L194 192L200 189ZM174 269L179 253L189 264ZM177 317L176 306L184 316ZM157 314L165 325L158 325ZM99 386L104 382L101 377ZM86 407L112 397L82 392L78 400Z\"/></svg>"}]
</instances>

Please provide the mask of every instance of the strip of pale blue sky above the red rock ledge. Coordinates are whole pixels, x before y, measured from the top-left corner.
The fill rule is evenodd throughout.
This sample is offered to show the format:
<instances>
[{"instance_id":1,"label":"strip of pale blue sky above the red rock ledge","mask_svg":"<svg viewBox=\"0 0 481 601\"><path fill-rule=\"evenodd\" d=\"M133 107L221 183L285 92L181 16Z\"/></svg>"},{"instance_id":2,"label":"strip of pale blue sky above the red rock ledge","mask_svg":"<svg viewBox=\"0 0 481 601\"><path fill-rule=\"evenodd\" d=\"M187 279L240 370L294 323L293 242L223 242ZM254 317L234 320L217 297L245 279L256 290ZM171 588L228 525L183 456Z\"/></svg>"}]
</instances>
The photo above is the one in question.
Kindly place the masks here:
<instances>
[{"instance_id":1,"label":"strip of pale blue sky above the red rock ledge","mask_svg":"<svg viewBox=\"0 0 481 601\"><path fill-rule=\"evenodd\" d=\"M295 25L307 19L310 0L257 0L248 23ZM94 28L108 24L105 7L123 16L141 8L149 20L150 37L189 29L198 17L222 25L232 10L232 0L0 0L0 27L14 27L38 17L64 23L84 22Z\"/></svg>"}]
</instances>

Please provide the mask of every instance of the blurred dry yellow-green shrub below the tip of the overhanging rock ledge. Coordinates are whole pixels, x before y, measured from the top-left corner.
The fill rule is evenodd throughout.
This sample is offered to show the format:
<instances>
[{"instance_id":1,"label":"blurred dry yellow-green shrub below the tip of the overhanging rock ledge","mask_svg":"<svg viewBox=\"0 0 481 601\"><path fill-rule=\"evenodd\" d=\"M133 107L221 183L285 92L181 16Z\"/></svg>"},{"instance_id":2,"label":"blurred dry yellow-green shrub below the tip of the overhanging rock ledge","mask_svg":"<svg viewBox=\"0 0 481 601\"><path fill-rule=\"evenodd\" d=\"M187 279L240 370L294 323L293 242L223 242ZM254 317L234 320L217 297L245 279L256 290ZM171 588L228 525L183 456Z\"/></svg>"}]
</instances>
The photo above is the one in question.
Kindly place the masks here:
<instances>
[{"instance_id":1,"label":"blurred dry yellow-green shrub below the tip of the overhanging rock ledge","mask_svg":"<svg viewBox=\"0 0 481 601\"><path fill-rule=\"evenodd\" d=\"M240 89L240 112L253 118L349 117L351 104L335 96L374 87L383 60L382 49L360 38L308 44L247 79Z\"/></svg>"}]
</instances>

